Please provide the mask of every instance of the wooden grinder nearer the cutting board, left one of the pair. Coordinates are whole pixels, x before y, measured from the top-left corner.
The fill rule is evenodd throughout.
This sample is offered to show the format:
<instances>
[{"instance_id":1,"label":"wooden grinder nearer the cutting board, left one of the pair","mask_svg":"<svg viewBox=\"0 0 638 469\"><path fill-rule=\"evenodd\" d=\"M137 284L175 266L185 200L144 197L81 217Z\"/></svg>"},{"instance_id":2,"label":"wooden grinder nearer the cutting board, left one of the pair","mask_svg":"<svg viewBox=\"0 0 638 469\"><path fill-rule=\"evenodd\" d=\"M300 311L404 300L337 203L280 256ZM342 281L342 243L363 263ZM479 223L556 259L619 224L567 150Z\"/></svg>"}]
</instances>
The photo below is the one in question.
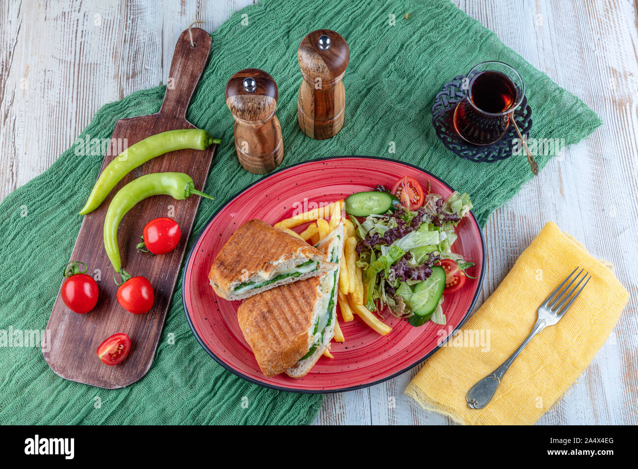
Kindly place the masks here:
<instances>
[{"instance_id":1,"label":"wooden grinder nearer the cutting board, left one of the pair","mask_svg":"<svg viewBox=\"0 0 638 469\"><path fill-rule=\"evenodd\" d=\"M281 125L275 115L279 92L271 75L246 68L226 84L226 105L235 119L235 149L242 167L265 174L283 160Z\"/></svg>"}]
</instances>

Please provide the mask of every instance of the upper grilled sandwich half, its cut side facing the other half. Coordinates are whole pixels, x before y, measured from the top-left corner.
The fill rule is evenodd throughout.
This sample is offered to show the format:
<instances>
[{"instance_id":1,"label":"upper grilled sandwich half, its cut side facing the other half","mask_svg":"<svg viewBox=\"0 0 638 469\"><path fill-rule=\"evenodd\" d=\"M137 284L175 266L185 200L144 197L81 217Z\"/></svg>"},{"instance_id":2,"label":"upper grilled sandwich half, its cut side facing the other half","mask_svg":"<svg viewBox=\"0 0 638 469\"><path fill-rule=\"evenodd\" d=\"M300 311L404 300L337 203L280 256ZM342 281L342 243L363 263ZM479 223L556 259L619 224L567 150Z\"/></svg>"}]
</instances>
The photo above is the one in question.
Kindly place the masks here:
<instances>
[{"instance_id":1,"label":"upper grilled sandwich half, its cut side facing the other half","mask_svg":"<svg viewBox=\"0 0 638 469\"><path fill-rule=\"evenodd\" d=\"M221 248L208 278L216 294L232 301L320 276L333 267L325 253L306 241L250 220Z\"/></svg>"}]
</instances>

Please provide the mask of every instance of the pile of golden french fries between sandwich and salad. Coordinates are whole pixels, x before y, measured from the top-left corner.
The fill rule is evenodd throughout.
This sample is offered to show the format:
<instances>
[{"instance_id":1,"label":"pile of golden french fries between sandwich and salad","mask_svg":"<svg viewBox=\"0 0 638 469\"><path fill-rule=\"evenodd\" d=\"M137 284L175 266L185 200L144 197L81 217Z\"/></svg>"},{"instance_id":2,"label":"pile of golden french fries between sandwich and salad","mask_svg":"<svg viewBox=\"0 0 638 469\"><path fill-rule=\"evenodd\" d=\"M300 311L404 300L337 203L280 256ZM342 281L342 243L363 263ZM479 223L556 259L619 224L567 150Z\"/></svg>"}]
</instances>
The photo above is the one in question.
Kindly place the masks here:
<instances>
[{"instance_id":1,"label":"pile of golden french fries between sandwich and salad","mask_svg":"<svg viewBox=\"0 0 638 469\"><path fill-rule=\"evenodd\" d=\"M304 241L310 241L316 244L326 237L341 221L341 212L343 211L343 200L338 200L329 205L318 207L308 212L295 215L291 218L279 221L274 226L284 230L286 233L296 236ZM330 217L330 221L325 219ZM292 228L299 227L305 223L311 222L308 227L301 233L297 233ZM392 327L383 324L369 309L364 305L364 286L363 272L361 267L357 267L357 238L355 237L355 227L352 221L343 218L344 236L343 255L341 256L341 265L339 267L339 292L338 304L341 309L341 317L344 322L350 322L354 319L354 315L359 316L363 322L376 332L385 336L392 331ZM334 325L334 340L337 342L345 341L339 321ZM329 350L324 355L333 358Z\"/></svg>"}]
</instances>

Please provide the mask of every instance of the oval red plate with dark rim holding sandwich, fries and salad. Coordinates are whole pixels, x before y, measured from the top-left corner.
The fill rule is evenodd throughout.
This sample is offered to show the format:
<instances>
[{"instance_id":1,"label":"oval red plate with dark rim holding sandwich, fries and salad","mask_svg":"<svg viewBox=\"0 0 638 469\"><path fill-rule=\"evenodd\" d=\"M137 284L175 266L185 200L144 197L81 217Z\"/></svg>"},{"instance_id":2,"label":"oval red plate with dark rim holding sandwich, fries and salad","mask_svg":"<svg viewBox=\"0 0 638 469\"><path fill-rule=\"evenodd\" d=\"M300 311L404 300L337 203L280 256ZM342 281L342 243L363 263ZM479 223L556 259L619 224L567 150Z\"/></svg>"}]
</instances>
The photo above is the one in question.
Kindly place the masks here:
<instances>
[{"instance_id":1,"label":"oval red plate with dark rim holding sandwich, fries and salad","mask_svg":"<svg viewBox=\"0 0 638 469\"><path fill-rule=\"evenodd\" d=\"M470 272L478 278L466 279L461 290L445 296L447 325L430 321L412 327L387 314L384 322L392 327L392 332L380 336L359 317L346 323L339 314L345 342L333 341L334 359L321 357L308 375L297 380L285 373L274 378L262 375L237 323L240 302L219 298L208 280L219 249L242 223L259 218L272 225L292 216L299 204L334 202L355 192L372 190L376 184L392 187L403 175L414 177L423 188L429 181L431 191L443 197L452 193L445 182L417 167L394 160L350 156L285 168L255 182L221 207L195 242L182 281L186 319L199 343L236 375L266 387L296 392L338 392L370 386L407 371L436 352L443 339L467 318L483 281L485 242L473 214L457 226L459 237L454 251L466 261L475 262Z\"/></svg>"}]
</instances>

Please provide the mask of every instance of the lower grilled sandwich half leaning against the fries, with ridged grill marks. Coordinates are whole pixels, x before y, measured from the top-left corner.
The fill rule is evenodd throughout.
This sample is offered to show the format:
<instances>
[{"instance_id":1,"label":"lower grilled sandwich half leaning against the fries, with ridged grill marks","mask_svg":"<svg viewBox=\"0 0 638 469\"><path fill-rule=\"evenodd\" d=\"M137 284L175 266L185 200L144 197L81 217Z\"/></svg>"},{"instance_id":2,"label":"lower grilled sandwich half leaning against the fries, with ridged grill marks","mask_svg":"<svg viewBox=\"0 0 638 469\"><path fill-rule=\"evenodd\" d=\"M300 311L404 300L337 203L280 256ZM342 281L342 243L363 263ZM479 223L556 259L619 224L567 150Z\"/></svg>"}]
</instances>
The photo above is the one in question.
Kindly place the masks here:
<instances>
[{"instance_id":1,"label":"lower grilled sandwich half leaning against the fries, with ridged grill marks","mask_svg":"<svg viewBox=\"0 0 638 469\"><path fill-rule=\"evenodd\" d=\"M332 263L321 276L267 290L237 310L239 327L265 376L301 378L334 337L343 225L317 246Z\"/></svg>"}]
</instances>

